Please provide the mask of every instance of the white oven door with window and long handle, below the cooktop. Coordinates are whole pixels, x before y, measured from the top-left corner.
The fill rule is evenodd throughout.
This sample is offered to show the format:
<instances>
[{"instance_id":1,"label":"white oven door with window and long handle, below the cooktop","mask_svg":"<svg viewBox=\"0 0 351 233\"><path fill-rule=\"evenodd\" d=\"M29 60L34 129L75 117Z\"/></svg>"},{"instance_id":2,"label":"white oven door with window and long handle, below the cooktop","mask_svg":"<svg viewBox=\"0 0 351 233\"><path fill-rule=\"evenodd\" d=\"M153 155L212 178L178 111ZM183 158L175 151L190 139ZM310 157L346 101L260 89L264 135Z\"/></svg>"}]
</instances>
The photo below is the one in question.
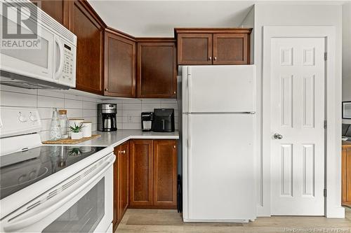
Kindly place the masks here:
<instances>
[{"instance_id":1,"label":"white oven door with window and long handle, below the cooktop","mask_svg":"<svg viewBox=\"0 0 351 233\"><path fill-rule=\"evenodd\" d=\"M103 157L6 216L4 232L108 232L114 160L112 153Z\"/></svg>"}]
</instances>

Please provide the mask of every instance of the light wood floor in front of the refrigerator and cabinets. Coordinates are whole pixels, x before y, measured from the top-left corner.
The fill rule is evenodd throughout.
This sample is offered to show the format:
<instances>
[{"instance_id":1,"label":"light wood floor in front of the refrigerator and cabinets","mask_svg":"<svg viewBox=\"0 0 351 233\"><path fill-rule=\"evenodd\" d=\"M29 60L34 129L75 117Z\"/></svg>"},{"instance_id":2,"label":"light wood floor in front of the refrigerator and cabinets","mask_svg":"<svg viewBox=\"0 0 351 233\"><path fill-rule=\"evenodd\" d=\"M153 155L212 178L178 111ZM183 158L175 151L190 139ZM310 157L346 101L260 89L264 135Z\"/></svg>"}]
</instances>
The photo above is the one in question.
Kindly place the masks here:
<instances>
[{"instance_id":1,"label":"light wood floor in front of the refrigerator and cabinets","mask_svg":"<svg viewBox=\"0 0 351 233\"><path fill-rule=\"evenodd\" d=\"M122 232L350 232L351 209L345 208L345 219L324 217L274 216L258 218L251 223L183 223L180 213L175 210L128 209L115 233ZM313 229L316 228L317 230ZM338 229L343 231L338 231Z\"/></svg>"}]
</instances>

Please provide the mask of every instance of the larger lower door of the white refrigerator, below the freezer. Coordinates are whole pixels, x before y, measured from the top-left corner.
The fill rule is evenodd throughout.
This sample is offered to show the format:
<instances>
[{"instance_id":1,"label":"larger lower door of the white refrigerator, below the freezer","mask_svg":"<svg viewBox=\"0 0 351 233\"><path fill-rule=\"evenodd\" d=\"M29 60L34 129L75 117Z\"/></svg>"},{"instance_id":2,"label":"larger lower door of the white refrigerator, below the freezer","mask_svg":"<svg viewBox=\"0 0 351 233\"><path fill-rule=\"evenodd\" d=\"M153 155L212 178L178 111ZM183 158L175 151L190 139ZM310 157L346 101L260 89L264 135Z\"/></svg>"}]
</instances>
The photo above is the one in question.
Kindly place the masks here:
<instances>
[{"instance_id":1,"label":"larger lower door of the white refrigerator, below the freezer","mask_svg":"<svg viewBox=\"0 0 351 233\"><path fill-rule=\"evenodd\" d=\"M183 114L185 221L256 218L252 114Z\"/></svg>"}]
</instances>

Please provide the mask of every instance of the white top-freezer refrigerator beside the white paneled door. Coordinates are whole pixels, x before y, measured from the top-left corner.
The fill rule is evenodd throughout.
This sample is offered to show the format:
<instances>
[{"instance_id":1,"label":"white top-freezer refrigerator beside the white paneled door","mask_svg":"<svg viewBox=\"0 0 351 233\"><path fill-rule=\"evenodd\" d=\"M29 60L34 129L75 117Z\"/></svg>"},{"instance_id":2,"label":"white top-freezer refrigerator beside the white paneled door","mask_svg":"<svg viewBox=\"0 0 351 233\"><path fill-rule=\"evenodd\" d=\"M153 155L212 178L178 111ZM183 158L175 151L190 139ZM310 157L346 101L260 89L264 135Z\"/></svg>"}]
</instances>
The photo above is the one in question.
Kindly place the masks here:
<instances>
[{"instance_id":1,"label":"white top-freezer refrigerator beside the white paneled door","mask_svg":"<svg viewBox=\"0 0 351 233\"><path fill-rule=\"evenodd\" d=\"M256 219L253 65L183 66L183 220Z\"/></svg>"}]
</instances>

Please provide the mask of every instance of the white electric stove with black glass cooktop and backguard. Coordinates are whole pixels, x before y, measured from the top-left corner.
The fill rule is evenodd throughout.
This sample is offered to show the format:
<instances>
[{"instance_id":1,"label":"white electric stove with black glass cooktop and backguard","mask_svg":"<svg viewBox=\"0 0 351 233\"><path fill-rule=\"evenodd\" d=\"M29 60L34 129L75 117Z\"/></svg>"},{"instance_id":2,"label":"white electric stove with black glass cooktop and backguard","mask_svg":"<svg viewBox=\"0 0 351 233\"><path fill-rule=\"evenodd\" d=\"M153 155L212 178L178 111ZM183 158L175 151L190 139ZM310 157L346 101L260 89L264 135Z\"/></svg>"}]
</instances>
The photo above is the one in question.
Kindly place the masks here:
<instances>
[{"instance_id":1,"label":"white electric stove with black glass cooktop and backguard","mask_svg":"<svg viewBox=\"0 0 351 233\"><path fill-rule=\"evenodd\" d=\"M112 232L112 148L45 146L37 109L0 108L0 232Z\"/></svg>"}]
</instances>

